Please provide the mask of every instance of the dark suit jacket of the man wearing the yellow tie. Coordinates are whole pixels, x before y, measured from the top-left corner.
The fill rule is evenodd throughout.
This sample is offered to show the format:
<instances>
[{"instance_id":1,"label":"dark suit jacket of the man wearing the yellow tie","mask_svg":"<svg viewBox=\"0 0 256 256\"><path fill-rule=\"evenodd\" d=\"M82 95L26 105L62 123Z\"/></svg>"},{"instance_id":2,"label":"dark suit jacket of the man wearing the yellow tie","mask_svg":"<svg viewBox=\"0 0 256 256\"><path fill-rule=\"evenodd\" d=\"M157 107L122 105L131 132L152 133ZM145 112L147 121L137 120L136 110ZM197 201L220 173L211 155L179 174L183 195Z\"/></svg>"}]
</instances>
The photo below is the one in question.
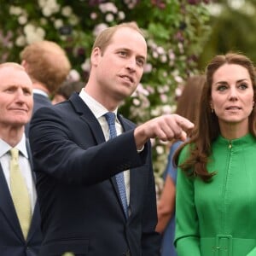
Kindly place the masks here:
<instances>
[{"instance_id":1,"label":"dark suit jacket of the man wearing the yellow tie","mask_svg":"<svg viewBox=\"0 0 256 256\"><path fill-rule=\"evenodd\" d=\"M31 161L32 155L28 144L26 148ZM34 176L33 173L32 176ZM3 174L3 168L0 165L0 255L37 256L42 242L40 224L41 218L37 202L32 215L32 224L25 241L8 184Z\"/></svg>"}]
</instances>

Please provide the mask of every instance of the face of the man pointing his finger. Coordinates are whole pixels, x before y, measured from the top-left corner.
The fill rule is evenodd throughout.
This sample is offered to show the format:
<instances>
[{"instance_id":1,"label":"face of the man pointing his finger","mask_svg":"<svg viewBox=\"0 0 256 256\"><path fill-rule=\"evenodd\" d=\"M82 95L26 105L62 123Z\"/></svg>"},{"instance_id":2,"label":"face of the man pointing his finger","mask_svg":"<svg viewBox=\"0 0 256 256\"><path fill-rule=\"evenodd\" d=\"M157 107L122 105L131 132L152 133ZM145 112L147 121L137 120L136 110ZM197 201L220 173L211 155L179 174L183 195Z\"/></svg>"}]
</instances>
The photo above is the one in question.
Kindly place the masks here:
<instances>
[{"instance_id":1,"label":"face of the man pointing his finger","mask_svg":"<svg viewBox=\"0 0 256 256\"><path fill-rule=\"evenodd\" d=\"M119 28L104 50L95 49L96 84L106 98L122 101L136 90L143 76L147 44L143 36L128 27Z\"/></svg>"}]
</instances>

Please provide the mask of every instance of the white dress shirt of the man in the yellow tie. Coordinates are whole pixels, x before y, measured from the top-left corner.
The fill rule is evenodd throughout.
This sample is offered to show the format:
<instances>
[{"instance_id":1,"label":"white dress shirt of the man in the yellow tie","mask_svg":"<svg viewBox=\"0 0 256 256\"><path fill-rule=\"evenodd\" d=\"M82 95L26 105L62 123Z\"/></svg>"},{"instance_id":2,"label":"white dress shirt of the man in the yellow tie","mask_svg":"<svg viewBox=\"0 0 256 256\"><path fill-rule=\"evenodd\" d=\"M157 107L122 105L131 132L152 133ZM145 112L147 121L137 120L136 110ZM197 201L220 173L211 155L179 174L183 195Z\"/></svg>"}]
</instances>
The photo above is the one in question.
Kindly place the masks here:
<instances>
[{"instance_id":1,"label":"white dress shirt of the man in the yellow tie","mask_svg":"<svg viewBox=\"0 0 256 256\"><path fill-rule=\"evenodd\" d=\"M9 162L10 162L10 154L9 149L12 147L4 142L0 138L0 163L3 169L3 174L6 179L6 182L8 184L9 190L10 190L10 182L9 182ZM19 164L20 164L20 172L22 176L26 180L26 186L28 189L31 205L32 205L32 212L35 207L35 202L37 200L37 193L35 189L35 185L32 178L32 172L31 172L31 166L30 162L28 160L28 154L26 151L26 137L25 134L23 134L22 139L20 140L20 143L18 143L15 148L18 148L20 151L19 154Z\"/></svg>"}]
</instances>

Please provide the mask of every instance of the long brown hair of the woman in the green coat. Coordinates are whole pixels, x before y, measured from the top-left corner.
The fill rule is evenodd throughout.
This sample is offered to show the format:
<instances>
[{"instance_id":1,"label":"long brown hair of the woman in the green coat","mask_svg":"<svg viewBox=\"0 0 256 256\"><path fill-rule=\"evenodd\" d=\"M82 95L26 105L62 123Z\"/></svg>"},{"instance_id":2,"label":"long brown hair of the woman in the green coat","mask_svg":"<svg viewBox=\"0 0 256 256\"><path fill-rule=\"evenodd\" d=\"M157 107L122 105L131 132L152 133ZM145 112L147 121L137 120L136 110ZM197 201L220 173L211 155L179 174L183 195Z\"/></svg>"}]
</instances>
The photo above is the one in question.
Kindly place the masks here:
<instances>
[{"instance_id":1,"label":"long brown hair of the woman in the green coat","mask_svg":"<svg viewBox=\"0 0 256 256\"><path fill-rule=\"evenodd\" d=\"M218 117L215 113L212 113L212 109L210 107L212 77L218 68L224 64L236 64L247 69L253 84L253 100L256 102L255 68L253 66L253 62L250 61L247 56L236 53L216 55L206 68L207 81L202 90L199 118L195 124L195 129L192 132L189 141L183 143L174 155L174 160L177 164L179 153L185 145L189 144L189 158L181 163L179 167L181 167L184 172L187 172L188 175L201 177L201 179L206 182L211 180L211 177L216 173L207 172L207 162L209 155L212 154L212 141L214 141L220 134ZM249 131L253 136L256 136L255 117L255 108L253 108L252 113L249 115Z\"/></svg>"}]
</instances>

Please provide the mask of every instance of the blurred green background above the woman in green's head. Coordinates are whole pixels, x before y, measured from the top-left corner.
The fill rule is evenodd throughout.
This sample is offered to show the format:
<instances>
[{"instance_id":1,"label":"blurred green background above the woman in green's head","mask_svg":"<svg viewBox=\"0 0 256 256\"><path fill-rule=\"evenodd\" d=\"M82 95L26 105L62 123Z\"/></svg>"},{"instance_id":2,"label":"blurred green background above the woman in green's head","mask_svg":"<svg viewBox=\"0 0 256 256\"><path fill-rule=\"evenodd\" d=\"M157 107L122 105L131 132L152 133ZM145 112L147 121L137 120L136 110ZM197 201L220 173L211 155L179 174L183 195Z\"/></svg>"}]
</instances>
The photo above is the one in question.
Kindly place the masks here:
<instances>
[{"instance_id":1,"label":"blurred green background above the woman in green's head","mask_svg":"<svg viewBox=\"0 0 256 256\"><path fill-rule=\"evenodd\" d=\"M256 63L256 1L219 0L209 5L209 12L211 33L199 67L203 69L213 55L229 50L240 51Z\"/></svg>"}]
</instances>

